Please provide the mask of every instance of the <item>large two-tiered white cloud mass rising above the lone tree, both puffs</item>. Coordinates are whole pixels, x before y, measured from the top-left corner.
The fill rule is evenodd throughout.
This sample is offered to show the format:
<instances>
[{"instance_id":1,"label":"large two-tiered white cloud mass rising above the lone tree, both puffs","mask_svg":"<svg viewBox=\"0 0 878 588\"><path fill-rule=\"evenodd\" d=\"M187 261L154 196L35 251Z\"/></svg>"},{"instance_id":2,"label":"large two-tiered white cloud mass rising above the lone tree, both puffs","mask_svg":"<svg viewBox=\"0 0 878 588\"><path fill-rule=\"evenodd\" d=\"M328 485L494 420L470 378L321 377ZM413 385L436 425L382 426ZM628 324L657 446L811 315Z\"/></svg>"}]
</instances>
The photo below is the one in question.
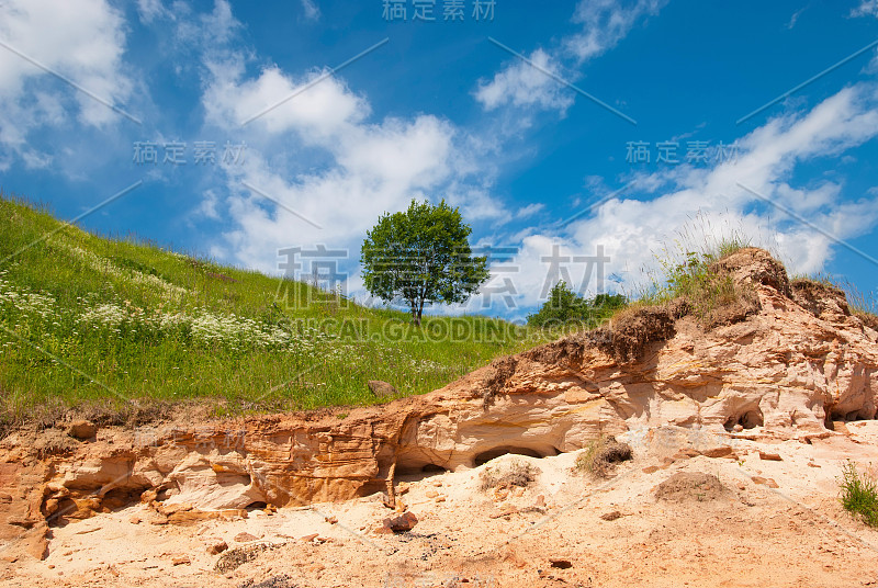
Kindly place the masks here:
<instances>
[{"instance_id":1,"label":"large two-tiered white cloud mass rising above the lone tree, both puffs","mask_svg":"<svg viewBox=\"0 0 878 588\"><path fill-rule=\"evenodd\" d=\"M450 122L372 120L369 101L326 70L269 65L248 75L246 63L239 54L205 57L202 94L206 124L249 146L244 165L223 168L232 228L221 248L234 261L273 271L279 248L324 244L349 249L356 268L365 231L413 197L447 197L471 220L508 217L488 181L466 180L471 149L486 147Z\"/></svg>"}]
</instances>

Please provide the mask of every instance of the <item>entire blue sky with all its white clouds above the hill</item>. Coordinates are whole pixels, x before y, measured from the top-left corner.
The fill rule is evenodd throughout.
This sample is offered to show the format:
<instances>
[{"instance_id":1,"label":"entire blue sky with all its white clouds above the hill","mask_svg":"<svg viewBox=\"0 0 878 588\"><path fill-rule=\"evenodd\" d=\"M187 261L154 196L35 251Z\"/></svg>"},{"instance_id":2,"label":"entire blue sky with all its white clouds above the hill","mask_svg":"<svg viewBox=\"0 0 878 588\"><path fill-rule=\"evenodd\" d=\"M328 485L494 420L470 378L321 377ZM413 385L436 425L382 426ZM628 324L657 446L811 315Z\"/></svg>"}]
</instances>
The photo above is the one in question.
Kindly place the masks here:
<instances>
[{"instance_id":1,"label":"entire blue sky with all its white clouds above the hill","mask_svg":"<svg viewBox=\"0 0 878 588\"><path fill-rule=\"evenodd\" d=\"M0 188L134 186L80 224L266 272L348 250L360 299L365 230L444 197L510 248L465 309L511 318L729 231L878 289L876 0L384 3L0 2Z\"/></svg>"}]
</instances>

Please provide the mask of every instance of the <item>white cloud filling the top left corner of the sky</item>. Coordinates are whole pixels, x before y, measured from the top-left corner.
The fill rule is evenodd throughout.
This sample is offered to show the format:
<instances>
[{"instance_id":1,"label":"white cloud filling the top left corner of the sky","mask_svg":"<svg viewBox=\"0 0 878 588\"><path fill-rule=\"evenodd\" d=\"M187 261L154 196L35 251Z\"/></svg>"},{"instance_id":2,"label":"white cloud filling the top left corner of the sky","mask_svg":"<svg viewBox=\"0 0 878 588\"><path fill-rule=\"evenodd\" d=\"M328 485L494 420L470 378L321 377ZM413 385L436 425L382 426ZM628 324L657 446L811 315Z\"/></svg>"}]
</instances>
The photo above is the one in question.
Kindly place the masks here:
<instances>
[{"instance_id":1,"label":"white cloud filling the top left corner of the sky","mask_svg":"<svg viewBox=\"0 0 878 588\"><path fill-rule=\"evenodd\" d=\"M25 165L38 167L46 159L27 146L29 133L67 124L71 100L79 122L87 126L105 128L120 120L106 104L44 69L103 101L124 104L132 91L122 69L124 19L104 0L2 2L0 38L9 46L0 47L0 143L23 157Z\"/></svg>"}]
</instances>

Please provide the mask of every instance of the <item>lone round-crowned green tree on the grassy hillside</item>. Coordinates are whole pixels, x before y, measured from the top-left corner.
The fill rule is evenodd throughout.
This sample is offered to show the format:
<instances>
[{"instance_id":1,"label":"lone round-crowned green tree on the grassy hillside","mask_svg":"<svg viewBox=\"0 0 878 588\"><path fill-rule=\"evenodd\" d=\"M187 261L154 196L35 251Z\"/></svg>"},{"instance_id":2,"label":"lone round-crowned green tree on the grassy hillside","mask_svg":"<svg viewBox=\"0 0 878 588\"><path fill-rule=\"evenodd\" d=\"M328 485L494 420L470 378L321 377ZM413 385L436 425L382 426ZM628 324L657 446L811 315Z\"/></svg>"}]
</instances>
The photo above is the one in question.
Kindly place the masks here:
<instances>
[{"instance_id":1,"label":"lone round-crowned green tree on the grassy hillside","mask_svg":"<svg viewBox=\"0 0 878 588\"><path fill-rule=\"evenodd\" d=\"M488 279L487 258L470 248L472 228L458 208L412 200L405 212L384 214L367 233L360 261L373 296L405 301L420 326L425 304L465 302Z\"/></svg>"}]
</instances>

